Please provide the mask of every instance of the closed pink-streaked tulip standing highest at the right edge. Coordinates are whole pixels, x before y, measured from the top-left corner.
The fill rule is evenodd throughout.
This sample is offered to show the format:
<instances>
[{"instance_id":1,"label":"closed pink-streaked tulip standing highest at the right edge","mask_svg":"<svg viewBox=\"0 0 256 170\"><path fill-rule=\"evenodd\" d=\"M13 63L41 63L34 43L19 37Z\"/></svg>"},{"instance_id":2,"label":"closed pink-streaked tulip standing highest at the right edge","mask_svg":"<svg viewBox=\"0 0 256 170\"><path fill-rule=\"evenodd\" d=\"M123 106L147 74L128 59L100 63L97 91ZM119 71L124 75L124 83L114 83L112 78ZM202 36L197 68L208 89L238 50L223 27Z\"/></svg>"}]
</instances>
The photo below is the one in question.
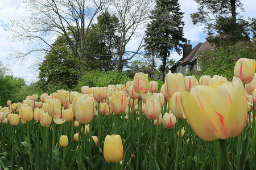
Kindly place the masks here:
<instances>
[{"instance_id":1,"label":"closed pink-streaked tulip standing highest at the right edge","mask_svg":"<svg viewBox=\"0 0 256 170\"><path fill-rule=\"evenodd\" d=\"M255 59L240 58L234 67L234 75L240 78L243 84L250 83L255 74Z\"/></svg>"}]
</instances>

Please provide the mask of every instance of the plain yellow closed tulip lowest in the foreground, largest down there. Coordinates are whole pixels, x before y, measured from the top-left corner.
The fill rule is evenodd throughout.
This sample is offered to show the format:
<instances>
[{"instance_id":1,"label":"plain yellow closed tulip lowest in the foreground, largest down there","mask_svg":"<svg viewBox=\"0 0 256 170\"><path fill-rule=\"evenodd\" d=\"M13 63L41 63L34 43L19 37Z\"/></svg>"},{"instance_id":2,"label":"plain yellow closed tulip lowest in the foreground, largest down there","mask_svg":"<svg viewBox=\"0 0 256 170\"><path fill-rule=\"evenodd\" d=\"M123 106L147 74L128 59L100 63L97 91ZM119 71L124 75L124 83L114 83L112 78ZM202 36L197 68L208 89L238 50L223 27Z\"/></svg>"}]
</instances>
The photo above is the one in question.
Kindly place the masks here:
<instances>
[{"instance_id":1,"label":"plain yellow closed tulip lowest in the foreground, largest down there","mask_svg":"<svg viewBox=\"0 0 256 170\"><path fill-rule=\"evenodd\" d=\"M123 143L120 135L107 135L104 142L104 158L107 162L118 163L123 158Z\"/></svg>"}]
</instances>

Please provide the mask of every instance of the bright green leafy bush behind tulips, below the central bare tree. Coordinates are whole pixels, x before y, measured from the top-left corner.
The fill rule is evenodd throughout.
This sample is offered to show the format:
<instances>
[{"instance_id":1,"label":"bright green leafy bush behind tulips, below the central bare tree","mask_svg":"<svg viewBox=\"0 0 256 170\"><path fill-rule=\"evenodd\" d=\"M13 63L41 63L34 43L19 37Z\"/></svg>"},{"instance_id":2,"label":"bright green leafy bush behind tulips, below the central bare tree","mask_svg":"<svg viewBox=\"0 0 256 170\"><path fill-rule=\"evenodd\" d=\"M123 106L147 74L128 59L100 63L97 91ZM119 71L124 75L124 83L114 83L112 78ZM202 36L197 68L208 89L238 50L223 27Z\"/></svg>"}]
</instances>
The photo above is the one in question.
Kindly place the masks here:
<instances>
[{"instance_id":1,"label":"bright green leafy bush behind tulips, below the central bare tree","mask_svg":"<svg viewBox=\"0 0 256 170\"><path fill-rule=\"evenodd\" d=\"M118 71L85 71L73 91L81 91L82 86L105 87L109 84L126 84L131 80L125 73Z\"/></svg>"}]
</instances>

